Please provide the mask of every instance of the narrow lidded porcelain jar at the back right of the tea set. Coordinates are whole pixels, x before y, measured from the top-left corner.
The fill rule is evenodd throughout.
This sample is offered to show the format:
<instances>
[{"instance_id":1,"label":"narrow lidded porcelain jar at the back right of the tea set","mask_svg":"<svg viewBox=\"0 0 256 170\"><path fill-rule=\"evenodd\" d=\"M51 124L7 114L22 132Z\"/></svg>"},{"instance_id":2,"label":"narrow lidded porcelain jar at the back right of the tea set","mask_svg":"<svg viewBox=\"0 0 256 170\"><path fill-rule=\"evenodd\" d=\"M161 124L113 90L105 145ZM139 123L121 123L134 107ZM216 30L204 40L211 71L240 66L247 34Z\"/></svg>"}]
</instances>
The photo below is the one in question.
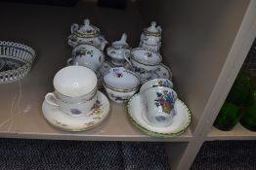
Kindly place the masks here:
<instances>
[{"instance_id":1,"label":"narrow lidded porcelain jar at the back right of the tea set","mask_svg":"<svg viewBox=\"0 0 256 170\"><path fill-rule=\"evenodd\" d=\"M139 47L159 52L161 47L161 34L161 26L156 26L156 22L152 21L151 25L144 29Z\"/></svg>"}]
</instances>

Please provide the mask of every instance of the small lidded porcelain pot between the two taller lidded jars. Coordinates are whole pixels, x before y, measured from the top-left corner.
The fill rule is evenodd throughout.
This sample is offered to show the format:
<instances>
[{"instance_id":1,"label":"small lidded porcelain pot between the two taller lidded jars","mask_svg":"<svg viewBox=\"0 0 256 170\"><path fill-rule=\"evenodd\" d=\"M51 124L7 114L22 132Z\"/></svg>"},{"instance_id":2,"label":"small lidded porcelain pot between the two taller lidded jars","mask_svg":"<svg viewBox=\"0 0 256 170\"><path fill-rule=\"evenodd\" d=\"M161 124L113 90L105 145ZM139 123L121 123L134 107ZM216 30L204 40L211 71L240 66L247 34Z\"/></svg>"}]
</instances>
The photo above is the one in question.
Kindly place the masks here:
<instances>
[{"instance_id":1,"label":"small lidded porcelain pot between the two taller lidded jars","mask_svg":"<svg viewBox=\"0 0 256 170\"><path fill-rule=\"evenodd\" d=\"M111 58L111 62L115 66L122 66L130 57L131 51L126 40L127 35L123 33L119 41L113 42L111 47L107 48L107 55Z\"/></svg>"}]
</instances>

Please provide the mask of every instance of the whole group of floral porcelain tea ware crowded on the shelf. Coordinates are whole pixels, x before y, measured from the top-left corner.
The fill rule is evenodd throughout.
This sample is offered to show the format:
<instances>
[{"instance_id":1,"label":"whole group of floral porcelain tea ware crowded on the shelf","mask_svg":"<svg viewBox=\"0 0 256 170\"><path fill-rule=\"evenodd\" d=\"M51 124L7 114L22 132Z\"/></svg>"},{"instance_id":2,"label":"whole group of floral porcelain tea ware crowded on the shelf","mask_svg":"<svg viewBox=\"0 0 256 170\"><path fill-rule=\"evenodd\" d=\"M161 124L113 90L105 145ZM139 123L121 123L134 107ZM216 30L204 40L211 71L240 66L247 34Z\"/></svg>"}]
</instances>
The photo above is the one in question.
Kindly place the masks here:
<instances>
[{"instance_id":1,"label":"whole group of floral porcelain tea ware crowded on the shelf","mask_svg":"<svg viewBox=\"0 0 256 170\"><path fill-rule=\"evenodd\" d=\"M72 56L55 75L55 90L45 95L44 117L66 131L90 129L107 118L108 97L127 103L131 122L151 136L172 137L186 131L191 113L173 89L170 69L161 63L161 32L152 21L135 49L123 33L106 49L106 57L107 41L100 29L88 18L81 26L73 23L67 40Z\"/></svg>"}]
</instances>

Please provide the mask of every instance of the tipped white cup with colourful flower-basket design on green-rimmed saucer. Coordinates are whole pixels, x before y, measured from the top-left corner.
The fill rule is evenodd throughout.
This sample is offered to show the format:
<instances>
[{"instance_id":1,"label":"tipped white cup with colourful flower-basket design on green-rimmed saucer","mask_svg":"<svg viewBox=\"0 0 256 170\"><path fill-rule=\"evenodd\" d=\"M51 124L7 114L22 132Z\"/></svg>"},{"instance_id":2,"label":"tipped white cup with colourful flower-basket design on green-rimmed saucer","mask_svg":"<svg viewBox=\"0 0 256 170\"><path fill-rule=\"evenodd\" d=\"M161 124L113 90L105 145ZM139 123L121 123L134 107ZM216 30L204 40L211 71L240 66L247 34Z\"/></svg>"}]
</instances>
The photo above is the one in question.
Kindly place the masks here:
<instances>
[{"instance_id":1,"label":"tipped white cup with colourful flower-basket design on green-rimmed saucer","mask_svg":"<svg viewBox=\"0 0 256 170\"><path fill-rule=\"evenodd\" d=\"M176 111L174 104L177 93L168 87L155 86L142 94L147 105L144 119L148 119L153 126L166 127L173 121Z\"/></svg>"}]
</instances>

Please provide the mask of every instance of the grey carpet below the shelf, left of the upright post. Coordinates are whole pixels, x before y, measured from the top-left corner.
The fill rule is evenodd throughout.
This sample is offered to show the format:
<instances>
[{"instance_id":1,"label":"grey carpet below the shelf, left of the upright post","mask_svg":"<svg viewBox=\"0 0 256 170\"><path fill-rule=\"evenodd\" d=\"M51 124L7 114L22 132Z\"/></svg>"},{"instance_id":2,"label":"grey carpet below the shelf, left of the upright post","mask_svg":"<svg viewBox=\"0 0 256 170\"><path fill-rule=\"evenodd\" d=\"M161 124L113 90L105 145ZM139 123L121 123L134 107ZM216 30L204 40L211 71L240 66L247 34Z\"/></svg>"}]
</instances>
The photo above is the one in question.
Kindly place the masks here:
<instances>
[{"instance_id":1,"label":"grey carpet below the shelf, left of the upright post","mask_svg":"<svg viewBox=\"0 0 256 170\"><path fill-rule=\"evenodd\" d=\"M1 170L169 170L161 143L0 139Z\"/></svg>"}]
</instances>

